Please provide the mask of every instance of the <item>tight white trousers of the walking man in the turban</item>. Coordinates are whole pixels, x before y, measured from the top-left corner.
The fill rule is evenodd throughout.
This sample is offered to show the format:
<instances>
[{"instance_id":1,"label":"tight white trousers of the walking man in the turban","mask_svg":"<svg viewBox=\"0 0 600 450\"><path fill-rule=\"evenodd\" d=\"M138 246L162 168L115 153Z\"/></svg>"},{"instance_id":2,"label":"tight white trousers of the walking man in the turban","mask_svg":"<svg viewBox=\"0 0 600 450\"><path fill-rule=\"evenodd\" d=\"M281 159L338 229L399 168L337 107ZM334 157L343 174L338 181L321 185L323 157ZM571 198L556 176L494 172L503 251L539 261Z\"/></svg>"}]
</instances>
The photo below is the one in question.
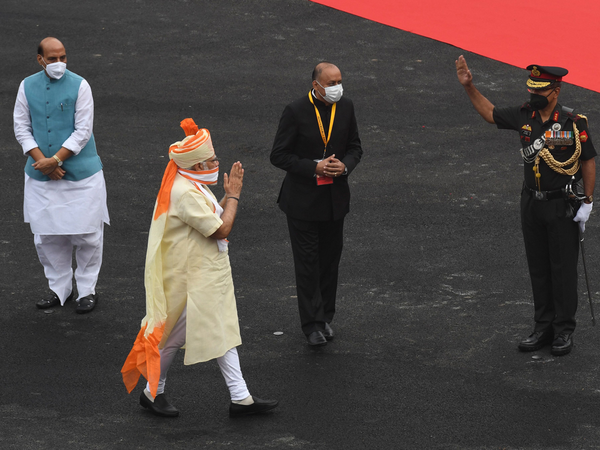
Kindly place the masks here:
<instances>
[{"instance_id":1,"label":"tight white trousers of the walking man in the turban","mask_svg":"<svg viewBox=\"0 0 600 450\"><path fill-rule=\"evenodd\" d=\"M164 382L167 379L167 370L169 370L169 366L173 362L177 350L181 349L185 344L186 312L187 308L184 308L177 323L175 323L175 326L171 330L166 343L164 343L163 349L160 350L160 379L158 379L157 395L163 394ZM250 392L248 392L246 382L242 376L242 370L239 368L238 349L233 347L233 349L227 350L223 356L217 358L217 362L227 383L227 388L229 388L231 400L244 400L244 398L248 397ZM146 389L150 391L149 383L146 383Z\"/></svg>"}]
</instances>

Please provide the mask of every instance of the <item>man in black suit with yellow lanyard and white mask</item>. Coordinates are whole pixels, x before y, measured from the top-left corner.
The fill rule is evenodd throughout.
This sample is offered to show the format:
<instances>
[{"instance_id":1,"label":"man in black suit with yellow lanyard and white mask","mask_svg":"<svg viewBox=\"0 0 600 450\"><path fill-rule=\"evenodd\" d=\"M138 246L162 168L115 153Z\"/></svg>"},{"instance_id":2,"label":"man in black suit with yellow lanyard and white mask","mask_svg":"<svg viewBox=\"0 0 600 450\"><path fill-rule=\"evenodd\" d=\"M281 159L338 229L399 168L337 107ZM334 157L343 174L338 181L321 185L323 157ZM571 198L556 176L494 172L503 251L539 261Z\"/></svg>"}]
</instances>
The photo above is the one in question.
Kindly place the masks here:
<instances>
[{"instance_id":1,"label":"man in black suit with yellow lanyard and white mask","mask_svg":"<svg viewBox=\"0 0 600 450\"><path fill-rule=\"evenodd\" d=\"M271 163L287 172L277 203L287 215L302 331L313 346L334 337L348 176L362 155L354 105L342 92L340 69L317 64L313 89L286 106L271 151Z\"/></svg>"}]
</instances>

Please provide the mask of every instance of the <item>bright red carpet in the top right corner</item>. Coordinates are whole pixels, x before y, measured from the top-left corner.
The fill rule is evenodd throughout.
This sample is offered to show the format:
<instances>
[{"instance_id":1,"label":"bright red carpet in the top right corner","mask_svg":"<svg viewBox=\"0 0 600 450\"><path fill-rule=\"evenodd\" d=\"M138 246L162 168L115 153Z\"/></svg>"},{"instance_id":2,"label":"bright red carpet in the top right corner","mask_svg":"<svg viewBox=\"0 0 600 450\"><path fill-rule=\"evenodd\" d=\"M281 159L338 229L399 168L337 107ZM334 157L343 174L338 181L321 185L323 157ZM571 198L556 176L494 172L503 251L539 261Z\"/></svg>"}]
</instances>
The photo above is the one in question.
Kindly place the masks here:
<instances>
[{"instance_id":1,"label":"bright red carpet in the top right corner","mask_svg":"<svg viewBox=\"0 0 600 450\"><path fill-rule=\"evenodd\" d=\"M312 1L517 67L565 67L565 82L600 92L598 0Z\"/></svg>"}]
</instances>

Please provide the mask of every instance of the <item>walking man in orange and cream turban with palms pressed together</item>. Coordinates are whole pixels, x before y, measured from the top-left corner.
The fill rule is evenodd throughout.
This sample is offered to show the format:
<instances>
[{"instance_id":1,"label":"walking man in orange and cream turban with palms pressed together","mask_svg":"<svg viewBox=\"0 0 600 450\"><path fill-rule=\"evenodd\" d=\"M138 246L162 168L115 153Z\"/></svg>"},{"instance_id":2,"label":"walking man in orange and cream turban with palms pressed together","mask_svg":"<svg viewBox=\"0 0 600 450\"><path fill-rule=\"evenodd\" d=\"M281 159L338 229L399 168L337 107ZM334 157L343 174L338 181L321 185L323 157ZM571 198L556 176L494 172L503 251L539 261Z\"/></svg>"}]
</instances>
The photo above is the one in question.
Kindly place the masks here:
<instances>
[{"instance_id":1,"label":"walking man in orange and cream turban with palms pressed together","mask_svg":"<svg viewBox=\"0 0 600 450\"><path fill-rule=\"evenodd\" d=\"M181 123L187 137L169 148L169 164L154 208L148 236L146 316L121 373L127 390L140 374L148 383L140 404L159 416L179 411L164 397L167 370L185 346L184 364L216 358L232 403L230 416L263 412L277 400L248 392L236 347L238 312L227 253L238 209L244 169L238 161L223 174L220 202L208 185L216 184L219 163L208 130L192 119Z\"/></svg>"}]
</instances>

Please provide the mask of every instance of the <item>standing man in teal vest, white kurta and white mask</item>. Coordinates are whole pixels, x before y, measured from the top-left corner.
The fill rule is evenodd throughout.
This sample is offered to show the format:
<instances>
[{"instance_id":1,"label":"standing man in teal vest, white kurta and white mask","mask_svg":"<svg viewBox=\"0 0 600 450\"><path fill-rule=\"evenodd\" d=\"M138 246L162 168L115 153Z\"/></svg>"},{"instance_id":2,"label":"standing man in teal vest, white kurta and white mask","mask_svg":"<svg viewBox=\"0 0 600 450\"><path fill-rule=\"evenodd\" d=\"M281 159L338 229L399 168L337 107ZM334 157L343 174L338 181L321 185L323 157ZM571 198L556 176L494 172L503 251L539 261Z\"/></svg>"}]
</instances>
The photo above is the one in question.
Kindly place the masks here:
<instances>
[{"instance_id":1,"label":"standing man in teal vest, white kurta and white mask","mask_svg":"<svg viewBox=\"0 0 600 450\"><path fill-rule=\"evenodd\" d=\"M13 114L14 134L28 156L23 214L51 290L36 305L46 309L73 298L76 247L76 311L88 313L98 302L104 223L109 224L92 134L94 100L88 82L67 70L61 41L41 41L37 61L43 70L21 82Z\"/></svg>"}]
</instances>

